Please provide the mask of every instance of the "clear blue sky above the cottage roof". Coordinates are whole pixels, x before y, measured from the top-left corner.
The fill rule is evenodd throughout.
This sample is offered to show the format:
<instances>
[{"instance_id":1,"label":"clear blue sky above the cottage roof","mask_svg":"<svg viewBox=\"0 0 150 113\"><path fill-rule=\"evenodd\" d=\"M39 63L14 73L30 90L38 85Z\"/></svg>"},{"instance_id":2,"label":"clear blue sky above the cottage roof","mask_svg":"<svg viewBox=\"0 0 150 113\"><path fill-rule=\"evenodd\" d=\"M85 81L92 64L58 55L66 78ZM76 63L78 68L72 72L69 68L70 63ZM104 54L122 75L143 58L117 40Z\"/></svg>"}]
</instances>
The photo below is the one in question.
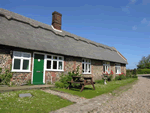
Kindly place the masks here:
<instances>
[{"instance_id":1,"label":"clear blue sky above the cottage roof","mask_svg":"<svg viewBox=\"0 0 150 113\"><path fill-rule=\"evenodd\" d=\"M115 47L136 68L150 54L150 0L1 0L0 7L51 25L62 14L62 29Z\"/></svg>"}]
</instances>

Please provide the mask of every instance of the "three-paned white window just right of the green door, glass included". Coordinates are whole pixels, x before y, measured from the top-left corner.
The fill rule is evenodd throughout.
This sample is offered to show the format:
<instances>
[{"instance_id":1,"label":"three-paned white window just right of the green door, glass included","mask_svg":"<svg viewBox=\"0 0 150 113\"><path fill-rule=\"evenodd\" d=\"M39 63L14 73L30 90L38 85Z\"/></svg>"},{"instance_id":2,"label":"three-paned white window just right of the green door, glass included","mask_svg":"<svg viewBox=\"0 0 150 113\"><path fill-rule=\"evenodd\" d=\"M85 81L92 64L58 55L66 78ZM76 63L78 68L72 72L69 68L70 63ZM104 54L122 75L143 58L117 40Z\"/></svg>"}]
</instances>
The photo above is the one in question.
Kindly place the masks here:
<instances>
[{"instance_id":1,"label":"three-paned white window just right of the green door, glass included","mask_svg":"<svg viewBox=\"0 0 150 113\"><path fill-rule=\"evenodd\" d=\"M63 71L63 59L62 56L46 55L46 70Z\"/></svg>"}]
</instances>

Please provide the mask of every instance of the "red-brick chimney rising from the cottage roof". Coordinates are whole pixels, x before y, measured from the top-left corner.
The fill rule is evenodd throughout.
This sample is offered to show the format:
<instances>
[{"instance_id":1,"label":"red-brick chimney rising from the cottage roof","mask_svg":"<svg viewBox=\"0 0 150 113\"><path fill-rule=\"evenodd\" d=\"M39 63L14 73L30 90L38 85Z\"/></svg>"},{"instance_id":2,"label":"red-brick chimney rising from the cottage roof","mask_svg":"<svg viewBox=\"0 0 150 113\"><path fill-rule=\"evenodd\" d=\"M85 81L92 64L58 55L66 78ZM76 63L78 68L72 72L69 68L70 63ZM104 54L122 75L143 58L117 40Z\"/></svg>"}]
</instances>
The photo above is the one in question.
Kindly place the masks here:
<instances>
[{"instance_id":1,"label":"red-brick chimney rising from the cottage roof","mask_svg":"<svg viewBox=\"0 0 150 113\"><path fill-rule=\"evenodd\" d=\"M61 30L61 17L62 17L62 14L54 11L52 13L52 26L55 28L55 29L58 29L58 30Z\"/></svg>"}]
</instances>

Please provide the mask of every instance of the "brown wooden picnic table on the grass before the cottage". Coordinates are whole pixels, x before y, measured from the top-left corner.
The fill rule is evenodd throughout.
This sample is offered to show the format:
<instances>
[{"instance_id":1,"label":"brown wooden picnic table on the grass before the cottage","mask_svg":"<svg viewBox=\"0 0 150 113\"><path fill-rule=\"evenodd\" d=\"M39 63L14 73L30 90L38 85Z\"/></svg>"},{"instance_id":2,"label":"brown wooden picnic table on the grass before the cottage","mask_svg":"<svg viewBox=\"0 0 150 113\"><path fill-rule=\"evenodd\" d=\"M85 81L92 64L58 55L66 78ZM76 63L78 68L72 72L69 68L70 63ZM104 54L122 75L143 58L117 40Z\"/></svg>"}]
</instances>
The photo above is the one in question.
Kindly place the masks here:
<instances>
[{"instance_id":1,"label":"brown wooden picnic table on the grass before the cottage","mask_svg":"<svg viewBox=\"0 0 150 113\"><path fill-rule=\"evenodd\" d=\"M81 80L81 78L83 78L83 80ZM80 86L82 86L80 92L83 91L85 85L90 85L90 84L93 86L93 89L95 90L95 87L94 87L95 82L93 82L92 77L73 76L72 80L68 81L68 83L70 83L68 89L70 88L72 83L77 83L77 84L80 84Z\"/></svg>"}]
</instances>

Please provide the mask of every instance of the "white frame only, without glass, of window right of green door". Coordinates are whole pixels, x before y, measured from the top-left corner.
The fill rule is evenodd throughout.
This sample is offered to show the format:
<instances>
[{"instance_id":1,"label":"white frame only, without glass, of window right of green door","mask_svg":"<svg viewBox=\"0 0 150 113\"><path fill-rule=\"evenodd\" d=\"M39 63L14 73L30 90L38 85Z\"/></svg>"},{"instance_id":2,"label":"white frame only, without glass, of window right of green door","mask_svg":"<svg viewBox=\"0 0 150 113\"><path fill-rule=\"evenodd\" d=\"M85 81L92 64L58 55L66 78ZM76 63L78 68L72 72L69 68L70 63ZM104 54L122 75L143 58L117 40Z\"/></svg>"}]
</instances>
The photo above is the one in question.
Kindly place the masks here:
<instances>
[{"instance_id":1,"label":"white frame only, without glass, of window right of green door","mask_svg":"<svg viewBox=\"0 0 150 113\"><path fill-rule=\"evenodd\" d=\"M47 56L51 56L51 58L47 58ZM57 59L53 59L53 57L56 56ZM59 57L62 57L62 60L59 59ZM64 71L64 57L59 55L53 55L53 54L46 54L45 57L45 70L46 71ZM51 69L47 69L47 61L51 61ZM53 69L53 61L57 61L57 69ZM59 68L59 61L62 62L62 69Z\"/></svg>"}]
</instances>

